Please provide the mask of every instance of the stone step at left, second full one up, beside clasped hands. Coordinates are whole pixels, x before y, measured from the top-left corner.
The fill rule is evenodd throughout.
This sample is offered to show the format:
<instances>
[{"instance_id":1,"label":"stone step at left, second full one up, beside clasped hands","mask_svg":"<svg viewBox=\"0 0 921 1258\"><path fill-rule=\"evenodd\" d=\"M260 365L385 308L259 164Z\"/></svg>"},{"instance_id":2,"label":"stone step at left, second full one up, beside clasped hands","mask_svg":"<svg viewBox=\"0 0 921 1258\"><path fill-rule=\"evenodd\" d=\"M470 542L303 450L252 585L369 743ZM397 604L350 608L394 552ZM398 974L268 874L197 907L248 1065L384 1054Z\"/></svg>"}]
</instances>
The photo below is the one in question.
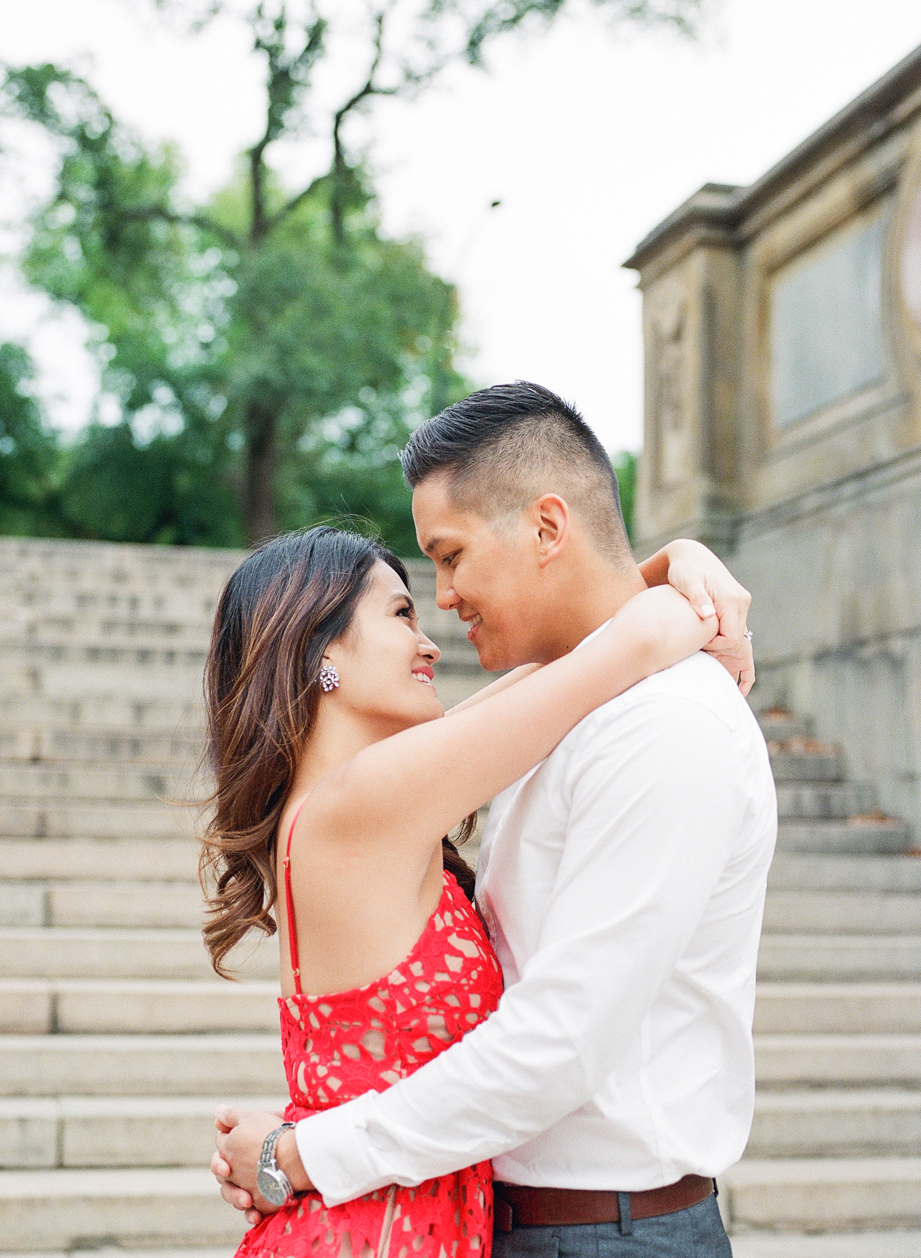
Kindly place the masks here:
<instances>
[{"instance_id":1,"label":"stone step at left, second full one up, beside clasped hands","mask_svg":"<svg viewBox=\"0 0 921 1258\"><path fill-rule=\"evenodd\" d=\"M217 1105L280 1112L286 1096L0 1099L0 1169L207 1166Z\"/></svg>"}]
</instances>

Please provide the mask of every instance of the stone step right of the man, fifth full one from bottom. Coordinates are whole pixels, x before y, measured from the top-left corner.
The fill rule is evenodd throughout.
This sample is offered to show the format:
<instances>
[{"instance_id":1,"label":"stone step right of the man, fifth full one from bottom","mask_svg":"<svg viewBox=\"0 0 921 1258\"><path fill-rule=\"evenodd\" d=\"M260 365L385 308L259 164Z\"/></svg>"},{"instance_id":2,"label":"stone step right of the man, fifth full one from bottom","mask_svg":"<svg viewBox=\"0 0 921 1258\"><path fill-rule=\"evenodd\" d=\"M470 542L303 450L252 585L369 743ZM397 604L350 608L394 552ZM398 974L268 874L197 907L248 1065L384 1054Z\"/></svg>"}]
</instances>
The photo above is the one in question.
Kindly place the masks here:
<instances>
[{"instance_id":1,"label":"stone step right of the man, fifth full one from bottom","mask_svg":"<svg viewBox=\"0 0 921 1258\"><path fill-rule=\"evenodd\" d=\"M761 980L921 980L917 935L763 935Z\"/></svg>"}]
</instances>

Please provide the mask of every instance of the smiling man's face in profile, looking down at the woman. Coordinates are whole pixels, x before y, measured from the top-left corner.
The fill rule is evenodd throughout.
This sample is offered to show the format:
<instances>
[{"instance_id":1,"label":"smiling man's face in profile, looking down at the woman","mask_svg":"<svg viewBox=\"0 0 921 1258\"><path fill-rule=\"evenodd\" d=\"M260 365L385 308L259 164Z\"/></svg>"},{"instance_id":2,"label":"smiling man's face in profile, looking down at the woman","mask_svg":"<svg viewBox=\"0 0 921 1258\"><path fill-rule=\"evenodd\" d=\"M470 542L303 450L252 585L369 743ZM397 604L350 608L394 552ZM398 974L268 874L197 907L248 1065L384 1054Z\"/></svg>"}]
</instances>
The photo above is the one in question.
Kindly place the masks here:
<instances>
[{"instance_id":1,"label":"smiling man's face in profile, looking down at the woman","mask_svg":"<svg viewBox=\"0 0 921 1258\"><path fill-rule=\"evenodd\" d=\"M451 502L444 474L412 494L418 545L433 561L437 604L467 625L489 672L543 662L542 582L535 531L526 513L490 522Z\"/></svg>"}]
</instances>

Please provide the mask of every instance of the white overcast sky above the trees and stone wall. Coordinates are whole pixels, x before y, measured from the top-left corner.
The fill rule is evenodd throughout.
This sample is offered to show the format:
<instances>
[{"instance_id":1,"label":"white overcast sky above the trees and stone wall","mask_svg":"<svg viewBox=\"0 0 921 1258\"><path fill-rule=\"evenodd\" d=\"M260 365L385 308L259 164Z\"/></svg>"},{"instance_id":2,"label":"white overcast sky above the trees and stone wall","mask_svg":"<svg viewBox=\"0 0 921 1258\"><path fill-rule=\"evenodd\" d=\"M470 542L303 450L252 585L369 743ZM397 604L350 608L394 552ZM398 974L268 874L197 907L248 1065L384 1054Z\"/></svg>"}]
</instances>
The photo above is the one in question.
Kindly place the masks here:
<instances>
[{"instance_id":1,"label":"white overcast sky above the trees and stone wall","mask_svg":"<svg viewBox=\"0 0 921 1258\"><path fill-rule=\"evenodd\" d=\"M495 45L488 74L377 103L354 138L372 141L386 229L423 235L460 284L474 381L538 380L611 450L636 449L640 299L619 264L701 184L751 182L918 43L918 0L722 0L696 44L624 35L577 0L549 34ZM147 0L0 0L0 59L82 68L118 117L178 141L196 196L263 116L245 34L183 38ZM295 184L325 157L318 141L278 160ZM0 286L0 337L31 345L53 418L79 425L94 379L78 321Z\"/></svg>"}]
</instances>

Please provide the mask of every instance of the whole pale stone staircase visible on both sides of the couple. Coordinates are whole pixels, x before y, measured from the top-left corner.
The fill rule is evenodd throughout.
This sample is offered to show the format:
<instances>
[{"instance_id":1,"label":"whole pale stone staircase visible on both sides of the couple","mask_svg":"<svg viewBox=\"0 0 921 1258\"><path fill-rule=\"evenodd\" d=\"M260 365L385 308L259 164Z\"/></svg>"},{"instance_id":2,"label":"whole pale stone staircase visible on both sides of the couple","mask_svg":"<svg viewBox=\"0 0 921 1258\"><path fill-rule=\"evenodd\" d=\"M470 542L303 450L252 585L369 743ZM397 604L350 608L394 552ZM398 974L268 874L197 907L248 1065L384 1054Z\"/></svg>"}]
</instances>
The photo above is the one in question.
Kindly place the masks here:
<instances>
[{"instance_id":1,"label":"whole pale stone staircase visible on both sides of the couple","mask_svg":"<svg viewBox=\"0 0 921 1258\"><path fill-rule=\"evenodd\" d=\"M0 538L1 1252L216 1258L243 1233L212 1111L284 1096L276 949L214 976L196 814L166 801L205 791L201 667L239 559ZM415 589L456 702L475 655L425 565ZM735 1253L918 1258L921 859L836 749L763 723L782 827L755 1123L720 1191Z\"/></svg>"}]
</instances>

